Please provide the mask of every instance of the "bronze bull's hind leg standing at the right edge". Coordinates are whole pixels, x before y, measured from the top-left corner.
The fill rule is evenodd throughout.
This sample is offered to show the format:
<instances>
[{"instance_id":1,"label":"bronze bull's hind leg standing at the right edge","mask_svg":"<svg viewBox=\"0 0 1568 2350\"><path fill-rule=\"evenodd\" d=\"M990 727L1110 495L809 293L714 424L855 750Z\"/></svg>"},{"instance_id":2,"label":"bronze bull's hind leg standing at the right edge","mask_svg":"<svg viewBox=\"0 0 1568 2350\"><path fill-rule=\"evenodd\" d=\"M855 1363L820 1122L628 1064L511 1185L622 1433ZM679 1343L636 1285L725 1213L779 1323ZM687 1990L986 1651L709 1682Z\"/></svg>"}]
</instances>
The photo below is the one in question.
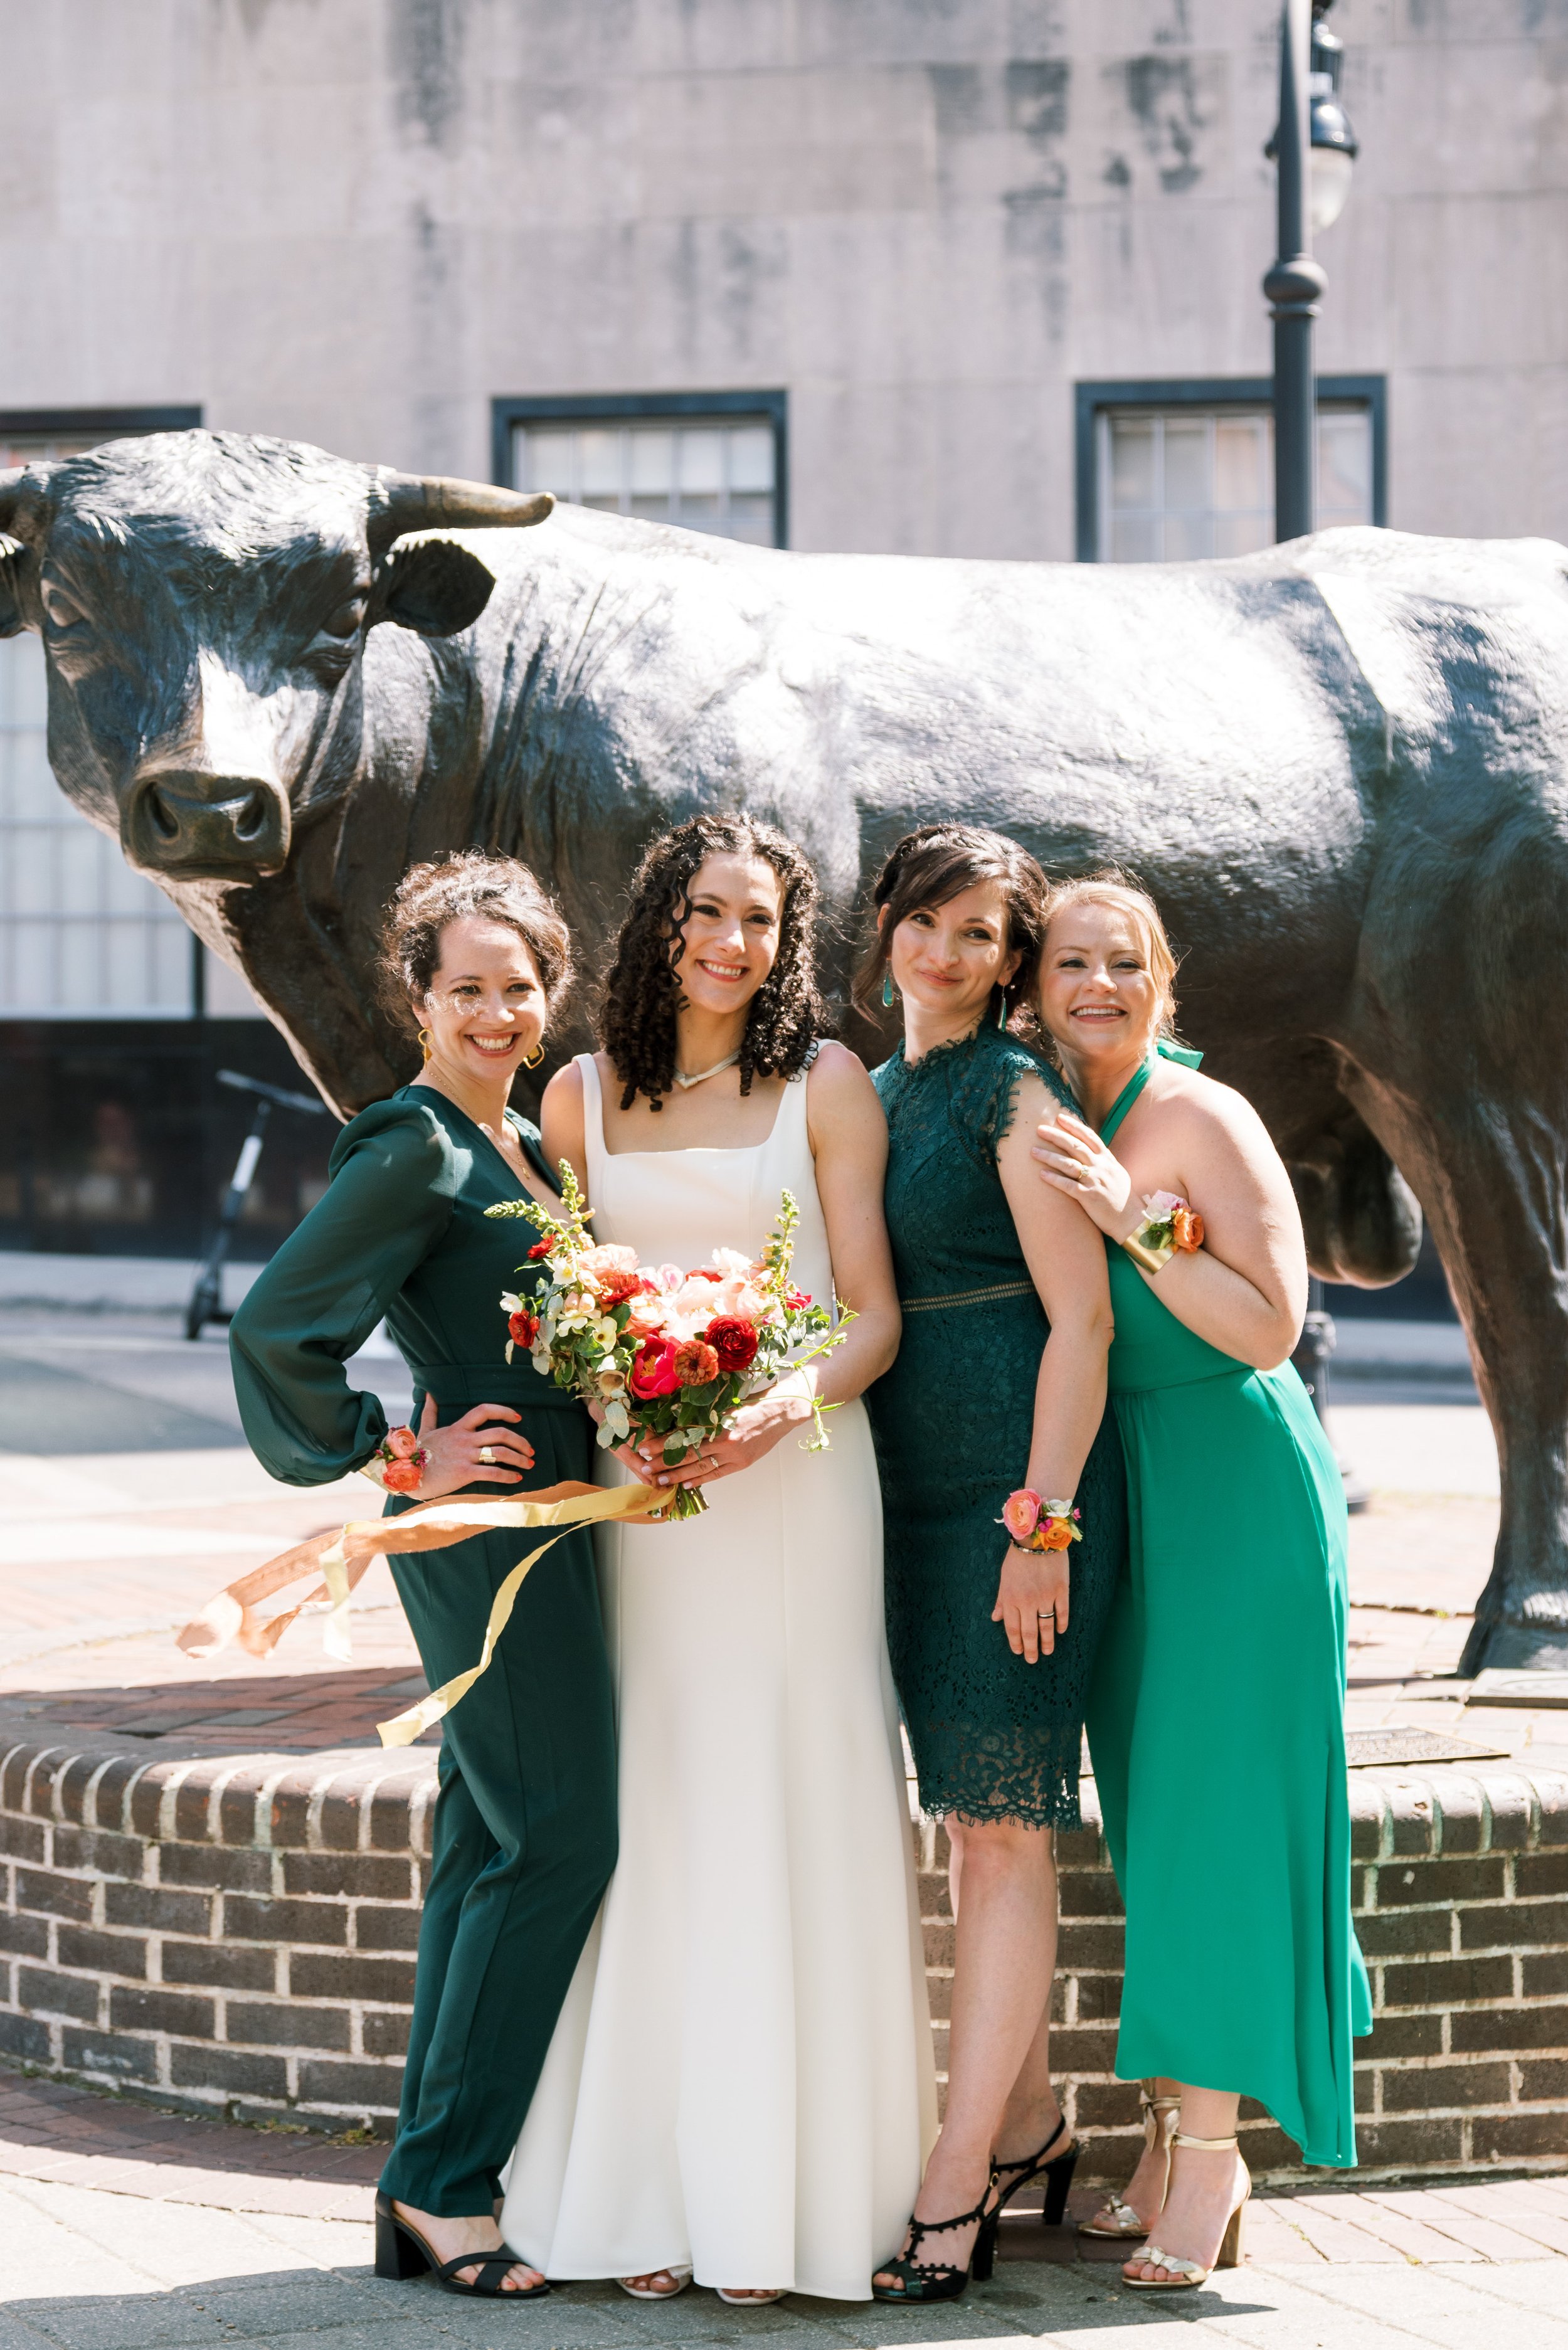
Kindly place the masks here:
<instances>
[{"instance_id":1,"label":"bronze bull's hind leg standing at the right edge","mask_svg":"<svg viewBox=\"0 0 1568 2350\"><path fill-rule=\"evenodd\" d=\"M1497 1438L1502 1523L1460 1671L1568 1668L1561 1112L1354 1069L1345 1090L1427 1210Z\"/></svg>"}]
</instances>

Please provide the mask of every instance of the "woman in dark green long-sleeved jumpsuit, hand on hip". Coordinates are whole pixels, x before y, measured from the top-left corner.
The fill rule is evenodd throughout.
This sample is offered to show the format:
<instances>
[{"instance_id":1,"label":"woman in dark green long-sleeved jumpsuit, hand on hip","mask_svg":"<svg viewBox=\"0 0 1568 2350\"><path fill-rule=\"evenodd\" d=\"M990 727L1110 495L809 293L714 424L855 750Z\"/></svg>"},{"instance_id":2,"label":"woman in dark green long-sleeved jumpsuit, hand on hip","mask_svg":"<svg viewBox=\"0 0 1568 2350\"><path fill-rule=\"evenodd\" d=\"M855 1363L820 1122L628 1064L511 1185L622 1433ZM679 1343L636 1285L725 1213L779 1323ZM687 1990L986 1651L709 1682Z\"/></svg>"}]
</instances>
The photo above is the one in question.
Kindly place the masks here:
<instances>
[{"instance_id":1,"label":"woman in dark green long-sleeved jumpsuit, hand on hip","mask_svg":"<svg viewBox=\"0 0 1568 2350\"><path fill-rule=\"evenodd\" d=\"M505 1109L505 1090L567 978L564 924L524 867L468 853L407 877L388 954L404 1003L423 1015L425 1072L343 1128L324 1198L235 1314L244 1434L289 1485L374 1464L386 1412L350 1389L343 1363L386 1316L428 1448L418 1492L388 1495L388 1511L590 1483L583 1405L527 1349L505 1363L498 1300L517 1285L524 1246L515 1222L484 1220L522 1189L552 1201L538 1130ZM524 1546L494 1532L393 1558L430 1687L477 1661L496 1586ZM522 2263L458 2256L501 2244L501 2167L614 1864L614 1706L592 1546L578 1530L527 1579L491 1668L442 1730L378 2272L444 2263L456 2291L538 2289Z\"/></svg>"}]
</instances>

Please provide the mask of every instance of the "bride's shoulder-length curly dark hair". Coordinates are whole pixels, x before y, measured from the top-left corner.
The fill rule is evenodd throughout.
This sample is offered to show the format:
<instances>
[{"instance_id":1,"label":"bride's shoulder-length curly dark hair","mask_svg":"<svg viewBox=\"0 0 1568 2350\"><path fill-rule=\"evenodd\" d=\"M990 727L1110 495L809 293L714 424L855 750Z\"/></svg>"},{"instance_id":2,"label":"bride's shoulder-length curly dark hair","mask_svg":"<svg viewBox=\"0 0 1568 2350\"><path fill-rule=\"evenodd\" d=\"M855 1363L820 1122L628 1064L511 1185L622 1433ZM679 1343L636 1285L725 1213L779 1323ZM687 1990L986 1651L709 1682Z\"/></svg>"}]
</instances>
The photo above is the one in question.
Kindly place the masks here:
<instances>
[{"instance_id":1,"label":"bride's shoulder-length curly dark hair","mask_svg":"<svg viewBox=\"0 0 1568 2350\"><path fill-rule=\"evenodd\" d=\"M682 1003L679 935L691 914L691 881L703 858L745 855L771 865L780 884L778 956L750 1001L741 1041L741 1093L752 1076L799 1076L827 1013L816 992L816 872L806 855L755 815L689 815L661 832L632 877L630 909L599 1003L599 1043L630 1109L646 1093L663 1109L675 1083L675 1015Z\"/></svg>"}]
</instances>

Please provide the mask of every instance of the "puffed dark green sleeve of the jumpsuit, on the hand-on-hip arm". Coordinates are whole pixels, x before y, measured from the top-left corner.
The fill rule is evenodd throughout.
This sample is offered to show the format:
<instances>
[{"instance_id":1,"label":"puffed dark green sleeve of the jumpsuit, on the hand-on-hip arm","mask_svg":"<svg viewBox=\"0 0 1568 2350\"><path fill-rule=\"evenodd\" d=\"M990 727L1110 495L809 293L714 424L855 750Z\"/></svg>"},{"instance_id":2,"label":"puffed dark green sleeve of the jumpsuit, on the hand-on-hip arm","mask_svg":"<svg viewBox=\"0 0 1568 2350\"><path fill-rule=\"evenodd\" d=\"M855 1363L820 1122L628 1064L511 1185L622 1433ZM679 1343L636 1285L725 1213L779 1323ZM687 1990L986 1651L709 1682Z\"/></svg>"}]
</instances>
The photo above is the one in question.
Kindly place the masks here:
<instances>
[{"instance_id":1,"label":"puffed dark green sleeve of the jumpsuit, on the hand-on-hip arm","mask_svg":"<svg viewBox=\"0 0 1568 2350\"><path fill-rule=\"evenodd\" d=\"M386 1436L381 1398L348 1384L364 1344L451 1220L456 1166L433 1112L376 1102L331 1152L324 1198L282 1243L228 1328L249 1448L284 1485L329 1485Z\"/></svg>"}]
</instances>

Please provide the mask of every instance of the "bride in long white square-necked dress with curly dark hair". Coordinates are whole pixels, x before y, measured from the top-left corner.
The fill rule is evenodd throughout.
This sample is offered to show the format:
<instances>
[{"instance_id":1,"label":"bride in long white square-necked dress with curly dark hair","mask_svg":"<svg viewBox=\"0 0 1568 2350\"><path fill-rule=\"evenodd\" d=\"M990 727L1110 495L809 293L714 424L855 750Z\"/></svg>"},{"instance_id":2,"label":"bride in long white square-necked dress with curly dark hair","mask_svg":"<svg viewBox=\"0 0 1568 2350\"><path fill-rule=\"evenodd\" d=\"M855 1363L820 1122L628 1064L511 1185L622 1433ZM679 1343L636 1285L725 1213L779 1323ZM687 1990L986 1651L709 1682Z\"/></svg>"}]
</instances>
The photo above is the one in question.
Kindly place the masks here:
<instances>
[{"instance_id":1,"label":"bride in long white square-necked dress with curly dark hair","mask_svg":"<svg viewBox=\"0 0 1568 2350\"><path fill-rule=\"evenodd\" d=\"M503 2235L550 2277L646 2298L696 2275L745 2303L867 2301L936 2136L882 1504L853 1401L898 1347L886 1126L853 1053L813 1046L813 902L802 853L748 818L656 841L607 982L609 1050L562 1069L543 1109L597 1241L654 1267L755 1257L788 1187L797 1285L858 1316L682 1471L705 1516L599 1535L621 1861ZM827 1452L806 1450L813 1391L839 1405Z\"/></svg>"}]
</instances>

